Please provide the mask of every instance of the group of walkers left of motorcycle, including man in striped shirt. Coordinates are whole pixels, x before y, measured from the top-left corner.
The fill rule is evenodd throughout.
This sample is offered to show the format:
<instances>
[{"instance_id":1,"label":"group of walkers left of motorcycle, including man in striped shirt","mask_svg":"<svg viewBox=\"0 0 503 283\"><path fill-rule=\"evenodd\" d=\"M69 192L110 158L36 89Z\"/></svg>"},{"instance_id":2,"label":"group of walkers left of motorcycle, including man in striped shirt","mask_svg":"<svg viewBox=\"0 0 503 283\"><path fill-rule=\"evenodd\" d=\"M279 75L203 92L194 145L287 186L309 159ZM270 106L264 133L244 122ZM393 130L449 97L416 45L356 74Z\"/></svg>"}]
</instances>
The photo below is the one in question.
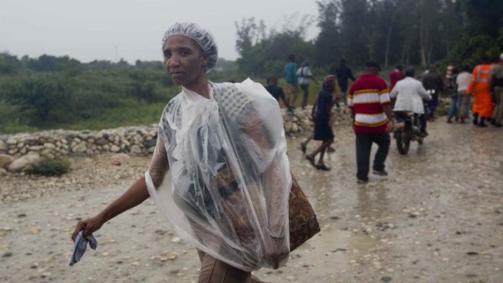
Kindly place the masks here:
<instances>
[{"instance_id":1,"label":"group of walkers left of motorcycle, including man in striped shirt","mask_svg":"<svg viewBox=\"0 0 503 283\"><path fill-rule=\"evenodd\" d=\"M295 56L290 55L289 61L285 65L285 92L276 84L277 79L269 77L266 89L278 101L283 99L285 106L292 109L295 99L298 96L297 90L303 90L302 108L307 105L309 81L316 79L312 75L309 63L304 61L301 68L296 69ZM378 77L381 69L375 61L368 61L366 71L355 79L352 70L346 65L345 59L341 59L339 66L331 69L332 74L323 79L323 85L319 91L314 106L312 108L312 120L314 121L314 131L310 137L301 142L301 150L305 154L305 159L318 170L330 170L323 161L325 153L330 150L330 145L334 142L332 130L334 106L339 106L338 100L348 106L354 117L354 133L357 137L357 179L359 183L368 182L370 170L370 150L372 144L379 146L372 166L372 173L386 176L386 157L390 146L389 133L394 128L392 119L392 108L388 86L386 81ZM353 81L348 90L348 82ZM317 81L316 81L317 82ZM339 83L341 93L334 93L336 82ZM286 97L286 98L285 98ZM307 143L314 139L321 141L321 144L312 152L307 153ZM319 155L318 160L316 157Z\"/></svg>"}]
</instances>

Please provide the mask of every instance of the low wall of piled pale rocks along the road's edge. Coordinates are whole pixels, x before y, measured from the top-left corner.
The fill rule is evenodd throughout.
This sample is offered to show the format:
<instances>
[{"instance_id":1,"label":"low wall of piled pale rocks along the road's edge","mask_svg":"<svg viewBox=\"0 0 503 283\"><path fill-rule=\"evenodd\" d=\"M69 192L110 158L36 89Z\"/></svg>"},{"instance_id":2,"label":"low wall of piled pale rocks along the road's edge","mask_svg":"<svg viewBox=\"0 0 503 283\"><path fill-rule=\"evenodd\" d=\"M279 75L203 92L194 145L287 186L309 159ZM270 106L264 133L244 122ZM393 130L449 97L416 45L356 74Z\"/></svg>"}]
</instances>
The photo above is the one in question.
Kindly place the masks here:
<instances>
[{"instance_id":1,"label":"low wall of piled pale rocks along the road's edge","mask_svg":"<svg viewBox=\"0 0 503 283\"><path fill-rule=\"evenodd\" d=\"M283 109L286 135L296 136L312 130L311 110L298 108L293 113ZM348 108L334 109L335 125L351 124ZM127 153L149 155L157 142L157 124L100 131L50 130L0 136L0 175L26 170L44 157L64 155L102 155Z\"/></svg>"}]
</instances>

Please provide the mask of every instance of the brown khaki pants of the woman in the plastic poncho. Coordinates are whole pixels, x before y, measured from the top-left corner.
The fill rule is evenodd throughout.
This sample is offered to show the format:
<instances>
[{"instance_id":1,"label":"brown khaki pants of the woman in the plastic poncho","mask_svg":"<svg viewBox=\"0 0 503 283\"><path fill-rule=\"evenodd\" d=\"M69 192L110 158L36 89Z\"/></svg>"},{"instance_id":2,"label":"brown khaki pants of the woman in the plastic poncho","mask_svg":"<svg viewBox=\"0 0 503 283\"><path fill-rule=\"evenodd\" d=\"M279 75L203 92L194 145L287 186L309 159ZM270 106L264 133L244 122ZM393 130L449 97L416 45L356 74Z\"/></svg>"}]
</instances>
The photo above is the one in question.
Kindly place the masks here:
<instances>
[{"instance_id":1,"label":"brown khaki pants of the woman in the plastic poncho","mask_svg":"<svg viewBox=\"0 0 503 283\"><path fill-rule=\"evenodd\" d=\"M262 282L252 273L236 269L225 262L199 251L201 261L201 272L199 273L199 283L255 283Z\"/></svg>"}]
</instances>

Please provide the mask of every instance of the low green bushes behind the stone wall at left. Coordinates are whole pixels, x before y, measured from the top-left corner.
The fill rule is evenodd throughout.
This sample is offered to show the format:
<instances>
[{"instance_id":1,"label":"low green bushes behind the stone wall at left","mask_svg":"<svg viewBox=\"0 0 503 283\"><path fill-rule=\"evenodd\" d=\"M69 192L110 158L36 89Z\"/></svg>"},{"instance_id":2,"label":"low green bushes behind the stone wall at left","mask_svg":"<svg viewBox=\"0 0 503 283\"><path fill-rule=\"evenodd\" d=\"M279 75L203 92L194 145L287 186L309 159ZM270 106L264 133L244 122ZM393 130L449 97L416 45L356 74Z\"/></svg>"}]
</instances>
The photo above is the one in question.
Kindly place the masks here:
<instances>
[{"instance_id":1,"label":"low green bushes behind the stone wall at left","mask_svg":"<svg viewBox=\"0 0 503 283\"><path fill-rule=\"evenodd\" d=\"M222 60L217 68L209 73L212 81L247 77L233 61ZM178 92L160 61L82 64L0 53L0 134L153 124Z\"/></svg>"}]
</instances>

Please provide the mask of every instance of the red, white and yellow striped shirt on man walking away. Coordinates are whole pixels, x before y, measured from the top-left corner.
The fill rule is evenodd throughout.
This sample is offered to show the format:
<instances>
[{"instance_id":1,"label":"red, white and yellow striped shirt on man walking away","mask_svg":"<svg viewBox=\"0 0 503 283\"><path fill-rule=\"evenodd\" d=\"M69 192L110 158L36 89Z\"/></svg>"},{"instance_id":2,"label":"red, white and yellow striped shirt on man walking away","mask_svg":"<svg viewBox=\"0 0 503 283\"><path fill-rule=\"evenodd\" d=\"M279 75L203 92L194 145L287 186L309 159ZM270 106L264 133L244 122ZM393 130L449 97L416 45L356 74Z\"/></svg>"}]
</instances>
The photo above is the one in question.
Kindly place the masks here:
<instances>
[{"instance_id":1,"label":"red, white and yellow striped shirt on man walking away","mask_svg":"<svg viewBox=\"0 0 503 283\"><path fill-rule=\"evenodd\" d=\"M390 104L386 82L377 75L361 75L348 94L348 106L354 111L354 133L386 133L388 117L383 106Z\"/></svg>"}]
</instances>

